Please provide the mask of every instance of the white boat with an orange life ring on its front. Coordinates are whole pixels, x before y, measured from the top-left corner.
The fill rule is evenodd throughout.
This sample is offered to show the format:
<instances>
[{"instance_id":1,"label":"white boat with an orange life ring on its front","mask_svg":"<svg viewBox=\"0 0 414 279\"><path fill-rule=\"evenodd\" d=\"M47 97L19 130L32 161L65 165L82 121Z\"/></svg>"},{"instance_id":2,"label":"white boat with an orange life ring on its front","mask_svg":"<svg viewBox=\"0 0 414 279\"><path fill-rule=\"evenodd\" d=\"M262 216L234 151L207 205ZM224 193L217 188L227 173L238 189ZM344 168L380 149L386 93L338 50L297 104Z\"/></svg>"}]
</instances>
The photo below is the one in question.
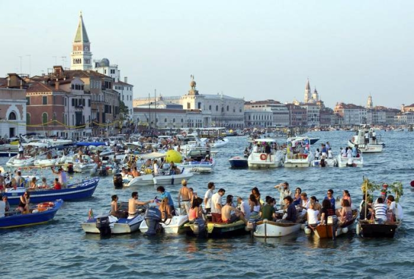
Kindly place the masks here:
<instances>
[{"instance_id":1,"label":"white boat with an orange life ring on its front","mask_svg":"<svg viewBox=\"0 0 414 279\"><path fill-rule=\"evenodd\" d=\"M249 167L279 167L282 165L282 152L280 150L273 150L273 144L276 142L274 138L257 138L253 141L253 144L256 146L260 144L263 152L251 152L247 158L247 164ZM267 154L264 152L264 145L269 144L272 147L272 153L268 158Z\"/></svg>"}]
</instances>

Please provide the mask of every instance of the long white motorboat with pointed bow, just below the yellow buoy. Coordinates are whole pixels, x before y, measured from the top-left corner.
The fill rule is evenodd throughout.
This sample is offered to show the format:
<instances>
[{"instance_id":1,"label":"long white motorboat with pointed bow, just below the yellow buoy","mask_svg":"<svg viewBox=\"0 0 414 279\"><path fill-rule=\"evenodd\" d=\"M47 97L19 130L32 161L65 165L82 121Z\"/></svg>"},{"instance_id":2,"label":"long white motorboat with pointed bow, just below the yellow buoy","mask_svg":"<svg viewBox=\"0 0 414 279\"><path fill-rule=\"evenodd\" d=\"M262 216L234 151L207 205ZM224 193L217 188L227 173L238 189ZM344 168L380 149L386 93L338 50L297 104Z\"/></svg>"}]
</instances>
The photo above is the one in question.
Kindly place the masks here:
<instances>
[{"instance_id":1,"label":"long white motorboat with pointed bow, just below the yellow buoy","mask_svg":"<svg viewBox=\"0 0 414 279\"><path fill-rule=\"evenodd\" d=\"M129 182L124 183L124 186L148 186L148 185L173 185L180 184L182 179L190 179L194 173L191 173L189 169L184 168L180 174L167 174L167 175L152 175L145 174L132 178Z\"/></svg>"}]
</instances>

